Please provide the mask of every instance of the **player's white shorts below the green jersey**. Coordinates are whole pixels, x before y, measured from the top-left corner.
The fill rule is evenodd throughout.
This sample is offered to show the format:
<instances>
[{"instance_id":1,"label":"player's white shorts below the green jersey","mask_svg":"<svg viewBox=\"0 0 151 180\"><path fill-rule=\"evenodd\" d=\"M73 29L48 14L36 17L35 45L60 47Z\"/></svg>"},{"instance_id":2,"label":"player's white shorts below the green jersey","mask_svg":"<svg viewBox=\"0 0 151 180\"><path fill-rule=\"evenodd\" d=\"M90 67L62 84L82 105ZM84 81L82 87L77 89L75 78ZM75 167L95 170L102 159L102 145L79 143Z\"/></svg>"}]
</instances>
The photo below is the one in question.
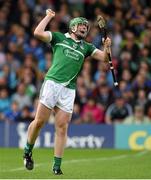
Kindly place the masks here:
<instances>
[{"instance_id":1,"label":"player's white shorts below the green jersey","mask_svg":"<svg viewBox=\"0 0 151 180\"><path fill-rule=\"evenodd\" d=\"M57 106L65 112L72 113L74 99L74 89L69 89L52 80L44 81L40 90L40 102L49 109Z\"/></svg>"}]
</instances>

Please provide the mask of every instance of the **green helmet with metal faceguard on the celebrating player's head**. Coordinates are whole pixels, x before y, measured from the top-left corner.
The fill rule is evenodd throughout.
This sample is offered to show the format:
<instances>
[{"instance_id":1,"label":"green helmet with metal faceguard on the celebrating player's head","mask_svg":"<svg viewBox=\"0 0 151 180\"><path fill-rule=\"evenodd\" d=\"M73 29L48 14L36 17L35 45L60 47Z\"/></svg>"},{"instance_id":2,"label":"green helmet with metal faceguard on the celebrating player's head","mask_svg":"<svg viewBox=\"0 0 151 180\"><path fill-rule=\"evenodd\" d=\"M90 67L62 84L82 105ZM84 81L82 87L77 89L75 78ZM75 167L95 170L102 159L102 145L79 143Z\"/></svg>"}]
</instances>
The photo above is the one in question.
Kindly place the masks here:
<instances>
[{"instance_id":1,"label":"green helmet with metal faceguard on the celebrating player's head","mask_svg":"<svg viewBox=\"0 0 151 180\"><path fill-rule=\"evenodd\" d=\"M89 22L86 18L77 17L77 18L72 19L69 23L69 31L72 33L75 33L78 36L77 30L78 30L79 25L85 25L87 27L87 32L85 32L83 34L83 37L82 36L79 37L82 39L82 38L85 38L87 36L89 29L90 29Z\"/></svg>"}]
</instances>

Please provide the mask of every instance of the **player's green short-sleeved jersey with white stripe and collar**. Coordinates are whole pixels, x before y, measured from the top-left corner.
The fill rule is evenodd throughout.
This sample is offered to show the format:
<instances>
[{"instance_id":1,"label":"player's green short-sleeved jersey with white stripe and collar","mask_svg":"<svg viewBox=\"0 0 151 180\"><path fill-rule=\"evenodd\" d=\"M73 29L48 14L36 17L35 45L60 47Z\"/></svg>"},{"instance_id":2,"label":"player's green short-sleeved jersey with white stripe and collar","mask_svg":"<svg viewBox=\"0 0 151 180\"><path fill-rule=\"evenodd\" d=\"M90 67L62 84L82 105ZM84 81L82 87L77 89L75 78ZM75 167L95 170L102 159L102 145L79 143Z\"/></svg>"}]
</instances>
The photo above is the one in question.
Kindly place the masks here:
<instances>
[{"instance_id":1,"label":"player's green short-sleeved jersey with white stripe and collar","mask_svg":"<svg viewBox=\"0 0 151 180\"><path fill-rule=\"evenodd\" d=\"M97 49L85 41L71 39L69 33L52 32L51 36L53 58L45 79L75 89L84 59L92 55Z\"/></svg>"}]
</instances>

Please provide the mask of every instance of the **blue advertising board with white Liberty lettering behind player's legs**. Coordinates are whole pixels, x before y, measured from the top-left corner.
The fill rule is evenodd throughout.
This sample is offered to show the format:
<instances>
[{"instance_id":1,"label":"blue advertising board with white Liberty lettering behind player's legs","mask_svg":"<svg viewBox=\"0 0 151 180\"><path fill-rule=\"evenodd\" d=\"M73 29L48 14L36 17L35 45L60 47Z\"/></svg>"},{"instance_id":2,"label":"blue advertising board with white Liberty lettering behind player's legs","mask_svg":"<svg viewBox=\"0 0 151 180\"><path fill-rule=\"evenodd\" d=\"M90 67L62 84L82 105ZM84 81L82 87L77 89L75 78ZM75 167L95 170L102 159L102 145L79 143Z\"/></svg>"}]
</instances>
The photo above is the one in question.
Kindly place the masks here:
<instances>
[{"instance_id":1,"label":"blue advertising board with white Liberty lettering behind player's legs","mask_svg":"<svg viewBox=\"0 0 151 180\"><path fill-rule=\"evenodd\" d=\"M26 123L0 123L0 146L23 148L27 139ZM36 140L35 147L54 146L54 126L46 124ZM71 148L113 148L114 127L108 125L69 126L67 147Z\"/></svg>"}]
</instances>

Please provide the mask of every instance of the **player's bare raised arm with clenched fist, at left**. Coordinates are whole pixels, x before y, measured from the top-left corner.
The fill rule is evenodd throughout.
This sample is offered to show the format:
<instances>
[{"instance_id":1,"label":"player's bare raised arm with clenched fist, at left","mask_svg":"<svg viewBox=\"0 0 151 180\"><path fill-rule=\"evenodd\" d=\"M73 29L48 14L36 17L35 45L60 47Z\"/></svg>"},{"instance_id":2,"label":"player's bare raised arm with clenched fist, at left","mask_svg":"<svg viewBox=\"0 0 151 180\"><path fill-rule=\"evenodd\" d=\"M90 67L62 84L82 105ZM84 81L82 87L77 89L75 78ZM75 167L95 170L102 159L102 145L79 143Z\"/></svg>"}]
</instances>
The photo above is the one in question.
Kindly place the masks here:
<instances>
[{"instance_id":1,"label":"player's bare raised arm with clenched fist, at left","mask_svg":"<svg viewBox=\"0 0 151 180\"><path fill-rule=\"evenodd\" d=\"M45 31L45 28L54 16L55 16L54 11L52 11L51 9L46 10L46 16L42 19L42 21L40 21L40 23L38 24L38 26L34 31L34 36L36 38L44 42L50 41L50 33L48 31Z\"/></svg>"}]
</instances>

